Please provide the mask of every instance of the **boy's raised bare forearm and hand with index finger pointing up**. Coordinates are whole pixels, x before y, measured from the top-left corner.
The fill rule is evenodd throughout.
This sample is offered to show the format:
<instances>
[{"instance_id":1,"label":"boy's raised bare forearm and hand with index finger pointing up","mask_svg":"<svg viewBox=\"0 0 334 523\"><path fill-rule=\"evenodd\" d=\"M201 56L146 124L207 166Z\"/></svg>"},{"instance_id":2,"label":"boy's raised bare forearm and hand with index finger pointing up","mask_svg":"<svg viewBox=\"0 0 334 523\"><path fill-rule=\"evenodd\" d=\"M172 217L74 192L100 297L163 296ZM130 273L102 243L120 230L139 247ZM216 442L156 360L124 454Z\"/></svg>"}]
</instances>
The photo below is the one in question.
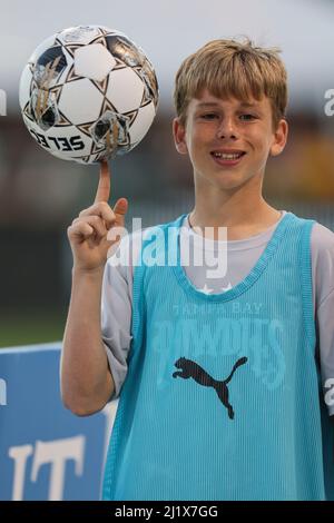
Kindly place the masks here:
<instances>
[{"instance_id":1,"label":"boy's raised bare forearm and hand with index finger pointing up","mask_svg":"<svg viewBox=\"0 0 334 523\"><path fill-rule=\"evenodd\" d=\"M78 415L100 411L114 391L114 381L101 335L101 287L107 254L119 241L127 200L114 210L107 204L110 191L108 165L101 167L95 204L80 213L68 228L73 255L72 289L60 364L61 396ZM112 239L107 239L114 229ZM110 236L110 235L108 235Z\"/></svg>"}]
</instances>

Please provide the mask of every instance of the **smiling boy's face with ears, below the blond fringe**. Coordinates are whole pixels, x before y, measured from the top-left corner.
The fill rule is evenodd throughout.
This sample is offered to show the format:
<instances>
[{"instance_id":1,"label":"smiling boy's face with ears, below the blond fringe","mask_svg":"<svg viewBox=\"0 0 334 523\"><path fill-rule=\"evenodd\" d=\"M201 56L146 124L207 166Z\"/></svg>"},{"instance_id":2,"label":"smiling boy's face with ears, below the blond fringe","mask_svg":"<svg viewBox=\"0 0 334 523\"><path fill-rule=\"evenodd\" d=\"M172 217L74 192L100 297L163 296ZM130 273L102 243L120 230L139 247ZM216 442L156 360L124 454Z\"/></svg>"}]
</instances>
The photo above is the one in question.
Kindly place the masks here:
<instances>
[{"instance_id":1,"label":"smiling boy's face with ears, below the blond fringe","mask_svg":"<svg viewBox=\"0 0 334 523\"><path fill-rule=\"evenodd\" d=\"M281 120L275 130L269 99L250 103L246 107L235 98L220 99L204 90L190 100L185 126L175 118L176 148L189 155L197 182L235 189L250 178L261 180L268 156L284 149L286 121Z\"/></svg>"}]
</instances>

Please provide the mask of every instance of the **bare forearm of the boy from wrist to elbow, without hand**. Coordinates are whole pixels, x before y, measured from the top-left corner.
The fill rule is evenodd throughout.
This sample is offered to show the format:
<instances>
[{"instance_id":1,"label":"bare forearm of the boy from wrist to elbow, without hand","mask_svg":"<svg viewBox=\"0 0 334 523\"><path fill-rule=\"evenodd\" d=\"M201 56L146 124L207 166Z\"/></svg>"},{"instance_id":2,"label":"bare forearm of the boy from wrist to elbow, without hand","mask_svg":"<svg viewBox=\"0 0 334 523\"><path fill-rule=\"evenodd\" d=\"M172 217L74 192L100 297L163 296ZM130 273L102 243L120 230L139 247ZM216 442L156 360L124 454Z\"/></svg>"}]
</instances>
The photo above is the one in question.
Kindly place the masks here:
<instances>
[{"instance_id":1,"label":"bare forearm of the boy from wrist to elbow, without hand","mask_svg":"<svg viewBox=\"0 0 334 523\"><path fill-rule=\"evenodd\" d=\"M61 354L61 396L67 408L89 415L104 408L114 381L101 337L102 270L72 269L72 292Z\"/></svg>"}]
</instances>

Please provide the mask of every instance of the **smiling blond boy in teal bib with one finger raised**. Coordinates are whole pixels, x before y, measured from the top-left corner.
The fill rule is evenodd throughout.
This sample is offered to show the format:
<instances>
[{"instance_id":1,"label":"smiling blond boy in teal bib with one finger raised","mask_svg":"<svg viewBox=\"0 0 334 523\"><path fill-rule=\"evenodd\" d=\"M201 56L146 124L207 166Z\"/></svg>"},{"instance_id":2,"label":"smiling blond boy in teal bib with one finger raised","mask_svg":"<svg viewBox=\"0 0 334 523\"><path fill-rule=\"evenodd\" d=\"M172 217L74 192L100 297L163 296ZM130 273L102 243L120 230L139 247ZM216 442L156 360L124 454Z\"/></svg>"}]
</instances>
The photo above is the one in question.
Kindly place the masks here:
<instances>
[{"instance_id":1,"label":"smiling blond boy in teal bib with one finger raised","mask_svg":"<svg viewBox=\"0 0 334 523\"><path fill-rule=\"evenodd\" d=\"M276 50L207 43L175 86L191 213L124 238L122 263L106 264L127 200L108 206L104 165L95 205L68 229L63 402L87 415L121 389L105 500L333 496L334 407L322 396L334 377L334 234L262 196L267 158L286 144L286 102ZM227 272L209 276L189 245L194 258L227 249Z\"/></svg>"}]
</instances>

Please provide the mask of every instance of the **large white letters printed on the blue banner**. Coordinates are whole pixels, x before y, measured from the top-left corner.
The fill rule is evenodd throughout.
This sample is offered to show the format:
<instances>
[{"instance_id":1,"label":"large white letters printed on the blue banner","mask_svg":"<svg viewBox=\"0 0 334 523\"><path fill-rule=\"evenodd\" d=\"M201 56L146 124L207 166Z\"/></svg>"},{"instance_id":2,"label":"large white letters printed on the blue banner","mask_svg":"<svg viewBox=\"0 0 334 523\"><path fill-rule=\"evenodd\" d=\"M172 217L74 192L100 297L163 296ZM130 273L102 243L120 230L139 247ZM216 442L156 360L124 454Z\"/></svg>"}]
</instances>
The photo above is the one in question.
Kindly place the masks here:
<instances>
[{"instance_id":1,"label":"large white letters printed on the blue banner","mask_svg":"<svg viewBox=\"0 0 334 523\"><path fill-rule=\"evenodd\" d=\"M85 436L67 437L51 442L37 441L35 452L32 445L11 447L9 456L14 460L14 477L12 500L21 501L24 494L27 460L33 453L31 481L37 482L41 466L50 466L49 501L60 501L63 496L66 462L75 461L76 475L84 473Z\"/></svg>"}]
</instances>

